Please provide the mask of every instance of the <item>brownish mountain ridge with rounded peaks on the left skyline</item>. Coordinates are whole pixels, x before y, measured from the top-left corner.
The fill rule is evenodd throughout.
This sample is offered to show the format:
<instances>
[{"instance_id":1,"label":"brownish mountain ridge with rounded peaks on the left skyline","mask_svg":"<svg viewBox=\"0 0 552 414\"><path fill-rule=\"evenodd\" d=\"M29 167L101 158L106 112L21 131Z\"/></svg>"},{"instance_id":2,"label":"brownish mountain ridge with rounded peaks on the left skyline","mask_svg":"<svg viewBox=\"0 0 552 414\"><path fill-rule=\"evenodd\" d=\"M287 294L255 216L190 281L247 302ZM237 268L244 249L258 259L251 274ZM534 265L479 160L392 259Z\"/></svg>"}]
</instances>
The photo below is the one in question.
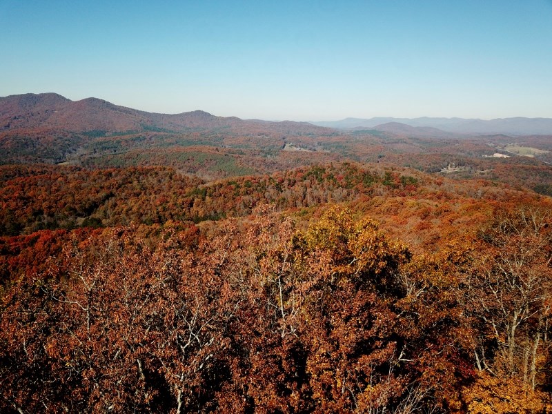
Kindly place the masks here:
<instances>
[{"instance_id":1,"label":"brownish mountain ridge with rounded peaks on the left skyline","mask_svg":"<svg viewBox=\"0 0 552 414\"><path fill-rule=\"evenodd\" d=\"M291 135L324 135L333 132L306 122L248 121L237 117L217 117L202 110L159 114L117 106L97 98L71 101L56 93L0 97L0 132L32 128L70 132L123 132L144 129L186 132L230 128L237 131L262 129Z\"/></svg>"}]
</instances>

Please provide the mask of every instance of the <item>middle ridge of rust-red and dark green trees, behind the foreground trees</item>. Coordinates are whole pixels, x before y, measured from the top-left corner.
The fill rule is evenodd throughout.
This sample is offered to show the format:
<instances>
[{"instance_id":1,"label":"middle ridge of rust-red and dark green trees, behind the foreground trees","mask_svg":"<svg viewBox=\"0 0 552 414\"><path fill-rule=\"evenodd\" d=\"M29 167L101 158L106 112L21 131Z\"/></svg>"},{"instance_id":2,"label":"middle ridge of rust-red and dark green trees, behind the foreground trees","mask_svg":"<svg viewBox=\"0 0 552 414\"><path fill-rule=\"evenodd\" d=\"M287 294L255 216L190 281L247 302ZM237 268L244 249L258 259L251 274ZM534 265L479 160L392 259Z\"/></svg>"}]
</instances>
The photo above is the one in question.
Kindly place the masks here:
<instances>
[{"instance_id":1,"label":"middle ridge of rust-red and dark green trees, behind the foreground trees","mask_svg":"<svg viewBox=\"0 0 552 414\"><path fill-rule=\"evenodd\" d=\"M205 183L168 167L84 170L0 167L0 235L38 230L165 224L248 215L260 204L280 210L373 197L512 199L485 181L454 184L402 168L324 164ZM523 193L524 197L528 197Z\"/></svg>"}]
</instances>

